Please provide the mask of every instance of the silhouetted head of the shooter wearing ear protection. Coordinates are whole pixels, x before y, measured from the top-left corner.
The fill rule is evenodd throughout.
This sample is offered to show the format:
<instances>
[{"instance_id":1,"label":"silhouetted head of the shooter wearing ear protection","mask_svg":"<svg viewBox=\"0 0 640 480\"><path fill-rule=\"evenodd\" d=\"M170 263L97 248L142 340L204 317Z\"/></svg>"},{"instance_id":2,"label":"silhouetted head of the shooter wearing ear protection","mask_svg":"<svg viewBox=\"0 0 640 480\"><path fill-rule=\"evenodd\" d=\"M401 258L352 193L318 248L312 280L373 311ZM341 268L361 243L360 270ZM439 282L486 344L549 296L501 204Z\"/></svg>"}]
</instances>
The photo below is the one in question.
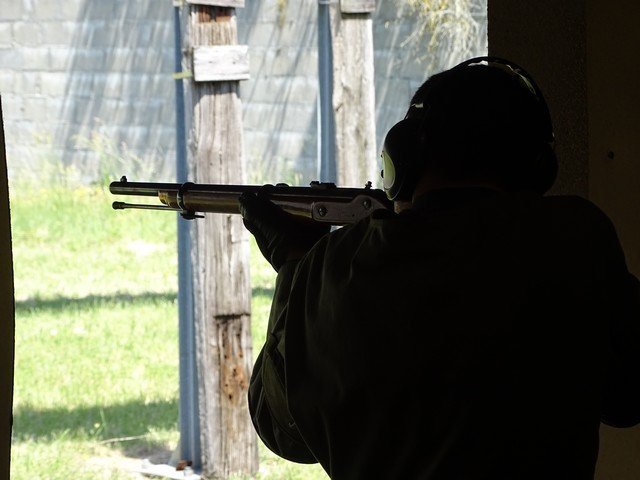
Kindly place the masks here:
<instances>
[{"instance_id":1,"label":"silhouetted head of the shooter wearing ear protection","mask_svg":"<svg viewBox=\"0 0 640 480\"><path fill-rule=\"evenodd\" d=\"M431 76L385 138L383 183L397 201L429 177L545 193L556 173L542 93L521 67L494 57Z\"/></svg>"}]
</instances>

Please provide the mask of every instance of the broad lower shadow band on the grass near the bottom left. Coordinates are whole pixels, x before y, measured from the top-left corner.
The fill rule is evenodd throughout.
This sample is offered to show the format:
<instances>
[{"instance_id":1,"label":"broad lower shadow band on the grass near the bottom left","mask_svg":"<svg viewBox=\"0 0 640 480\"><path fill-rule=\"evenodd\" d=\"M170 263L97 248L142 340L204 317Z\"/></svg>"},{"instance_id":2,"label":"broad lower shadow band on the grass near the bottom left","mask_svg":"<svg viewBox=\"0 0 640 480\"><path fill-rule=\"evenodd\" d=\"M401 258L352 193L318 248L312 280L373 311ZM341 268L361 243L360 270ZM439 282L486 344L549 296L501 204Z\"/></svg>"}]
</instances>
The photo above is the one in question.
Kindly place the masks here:
<instances>
[{"instance_id":1,"label":"broad lower shadow band on the grass near the bottom left","mask_svg":"<svg viewBox=\"0 0 640 480\"><path fill-rule=\"evenodd\" d=\"M135 457L166 448L162 442L145 437L151 429L178 430L177 399L71 409L18 407L13 411L12 441L91 439Z\"/></svg>"}]
</instances>

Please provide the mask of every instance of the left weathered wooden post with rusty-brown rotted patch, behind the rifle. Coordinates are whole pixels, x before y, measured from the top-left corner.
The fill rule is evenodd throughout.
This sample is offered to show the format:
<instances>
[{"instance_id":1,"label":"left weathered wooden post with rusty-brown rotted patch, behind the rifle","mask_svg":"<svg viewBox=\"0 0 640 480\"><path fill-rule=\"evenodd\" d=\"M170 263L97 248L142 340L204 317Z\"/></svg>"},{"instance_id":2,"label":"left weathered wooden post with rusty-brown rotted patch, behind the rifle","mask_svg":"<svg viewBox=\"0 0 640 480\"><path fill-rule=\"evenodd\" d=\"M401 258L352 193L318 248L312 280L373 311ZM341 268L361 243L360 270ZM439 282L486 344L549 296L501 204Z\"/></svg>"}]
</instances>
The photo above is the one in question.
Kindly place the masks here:
<instances>
[{"instance_id":1,"label":"left weathered wooden post with rusty-brown rotted patch, behind the rifle","mask_svg":"<svg viewBox=\"0 0 640 480\"><path fill-rule=\"evenodd\" d=\"M243 0L188 0L182 7L187 164L197 183L245 182L237 45ZM253 475L257 438L247 407L253 364L248 234L238 215L207 215L192 226L197 396L203 476Z\"/></svg>"}]
</instances>

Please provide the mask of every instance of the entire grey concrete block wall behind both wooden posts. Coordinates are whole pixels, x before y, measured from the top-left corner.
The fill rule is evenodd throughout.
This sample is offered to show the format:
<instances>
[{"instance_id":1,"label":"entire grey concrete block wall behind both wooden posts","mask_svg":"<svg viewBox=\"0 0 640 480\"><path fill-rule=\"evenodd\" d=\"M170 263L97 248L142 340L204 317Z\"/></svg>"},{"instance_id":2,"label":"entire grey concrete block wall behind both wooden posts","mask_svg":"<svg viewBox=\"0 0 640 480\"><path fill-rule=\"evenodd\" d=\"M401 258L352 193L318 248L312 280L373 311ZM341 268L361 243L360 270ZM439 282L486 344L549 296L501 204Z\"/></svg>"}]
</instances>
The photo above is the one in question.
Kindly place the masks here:
<instances>
[{"instance_id":1,"label":"entire grey concrete block wall behind both wooden posts","mask_svg":"<svg viewBox=\"0 0 640 480\"><path fill-rule=\"evenodd\" d=\"M456 28L434 33L408 1L377 2L378 145L430 73L485 51L486 1L472 2L473 25L462 8L469 2L451 3L455 15L447 21ZM171 2L0 0L0 12L12 181L56 179L70 169L85 182L124 173L173 179ZM240 91L253 183L318 178L316 14L316 0L247 1L237 10L239 43L249 45L251 64ZM451 31L467 40L453 42Z\"/></svg>"}]
</instances>

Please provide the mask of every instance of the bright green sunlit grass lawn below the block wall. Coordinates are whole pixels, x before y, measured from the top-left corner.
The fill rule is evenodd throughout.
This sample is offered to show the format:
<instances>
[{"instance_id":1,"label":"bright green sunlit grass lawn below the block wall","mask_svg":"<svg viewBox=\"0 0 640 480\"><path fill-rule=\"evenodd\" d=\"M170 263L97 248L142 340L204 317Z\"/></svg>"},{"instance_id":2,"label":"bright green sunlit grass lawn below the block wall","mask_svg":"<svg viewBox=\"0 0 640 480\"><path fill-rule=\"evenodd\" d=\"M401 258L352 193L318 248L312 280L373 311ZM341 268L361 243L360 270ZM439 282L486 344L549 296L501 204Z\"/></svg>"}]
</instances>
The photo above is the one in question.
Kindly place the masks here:
<instances>
[{"instance_id":1,"label":"bright green sunlit grass lawn below the block wall","mask_svg":"<svg viewBox=\"0 0 640 480\"><path fill-rule=\"evenodd\" d=\"M116 212L102 188L12 186L11 478L135 479L178 433L176 218ZM251 244L254 352L275 275ZM260 444L257 478L326 479Z\"/></svg>"}]
</instances>

